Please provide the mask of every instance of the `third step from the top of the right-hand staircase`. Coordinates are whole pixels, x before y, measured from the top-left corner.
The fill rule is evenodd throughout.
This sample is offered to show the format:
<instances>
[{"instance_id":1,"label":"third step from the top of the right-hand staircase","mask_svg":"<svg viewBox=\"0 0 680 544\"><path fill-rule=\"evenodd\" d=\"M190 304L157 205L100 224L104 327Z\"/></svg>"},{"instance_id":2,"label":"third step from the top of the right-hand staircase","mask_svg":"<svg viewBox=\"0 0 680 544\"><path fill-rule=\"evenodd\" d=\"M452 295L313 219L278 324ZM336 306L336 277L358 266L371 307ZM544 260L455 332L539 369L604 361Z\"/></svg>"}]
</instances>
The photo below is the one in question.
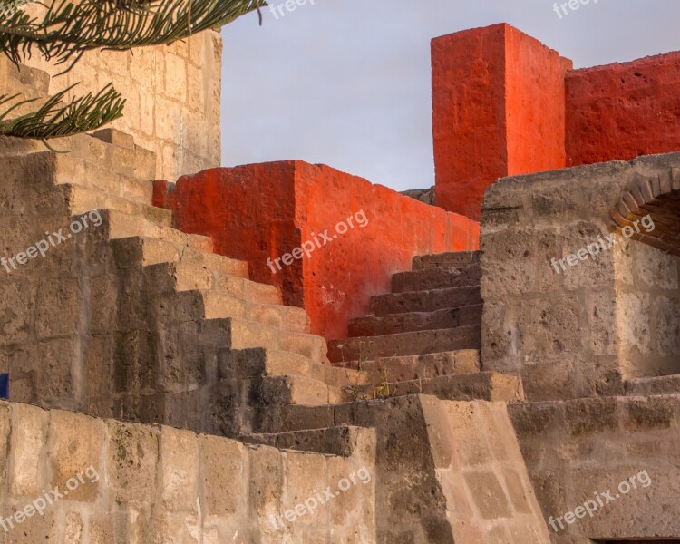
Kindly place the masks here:
<instances>
[{"instance_id":1,"label":"third step from the top of the right-hand staircase","mask_svg":"<svg viewBox=\"0 0 680 544\"><path fill-rule=\"evenodd\" d=\"M434 312L461 306L476 306L481 303L480 286L449 287L372 296L369 314L387 316L388 314Z\"/></svg>"}]
</instances>

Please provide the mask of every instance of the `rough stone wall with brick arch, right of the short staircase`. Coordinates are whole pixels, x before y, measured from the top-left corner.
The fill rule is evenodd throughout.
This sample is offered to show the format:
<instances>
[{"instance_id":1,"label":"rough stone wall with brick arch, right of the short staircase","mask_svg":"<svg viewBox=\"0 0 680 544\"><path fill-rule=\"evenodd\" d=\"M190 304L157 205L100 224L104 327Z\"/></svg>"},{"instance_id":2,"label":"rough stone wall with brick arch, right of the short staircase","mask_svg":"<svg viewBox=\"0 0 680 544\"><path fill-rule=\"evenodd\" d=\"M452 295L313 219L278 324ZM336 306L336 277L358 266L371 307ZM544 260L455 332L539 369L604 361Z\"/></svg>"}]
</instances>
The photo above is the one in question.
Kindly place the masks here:
<instances>
[{"instance_id":1,"label":"rough stone wall with brick arch, right of the short staircase","mask_svg":"<svg viewBox=\"0 0 680 544\"><path fill-rule=\"evenodd\" d=\"M487 190L485 370L520 374L529 400L617 394L631 377L680 374L680 259L621 234L595 258L568 257L606 240L623 194L678 165L679 154L651 156L508 178ZM562 270L567 258L575 264L563 261Z\"/></svg>"}]
</instances>

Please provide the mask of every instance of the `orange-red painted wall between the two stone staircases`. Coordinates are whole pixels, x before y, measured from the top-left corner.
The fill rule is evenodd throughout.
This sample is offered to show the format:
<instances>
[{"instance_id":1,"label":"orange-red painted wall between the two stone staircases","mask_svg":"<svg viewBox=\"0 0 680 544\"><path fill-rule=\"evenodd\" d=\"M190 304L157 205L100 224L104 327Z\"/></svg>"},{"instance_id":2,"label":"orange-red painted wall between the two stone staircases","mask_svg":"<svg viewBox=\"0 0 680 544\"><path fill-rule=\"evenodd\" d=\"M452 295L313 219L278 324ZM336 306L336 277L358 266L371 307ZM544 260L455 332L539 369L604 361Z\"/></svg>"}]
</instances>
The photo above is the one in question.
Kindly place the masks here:
<instances>
[{"instance_id":1,"label":"orange-red painted wall between the two stone staircases","mask_svg":"<svg viewBox=\"0 0 680 544\"><path fill-rule=\"evenodd\" d=\"M344 338L348 319L366 313L370 296L389 292L392 274L411 269L414 255L479 248L474 221L327 166L271 162L186 176L168 195L165 185L154 201L175 210L179 228L247 260L252 279L281 287L287 304L305 307L312 331L327 339ZM335 232L360 210L364 228L353 219L354 228ZM277 273L267 267L267 257L315 235L321 242L325 229L332 241L310 258L281 263Z\"/></svg>"}]
</instances>

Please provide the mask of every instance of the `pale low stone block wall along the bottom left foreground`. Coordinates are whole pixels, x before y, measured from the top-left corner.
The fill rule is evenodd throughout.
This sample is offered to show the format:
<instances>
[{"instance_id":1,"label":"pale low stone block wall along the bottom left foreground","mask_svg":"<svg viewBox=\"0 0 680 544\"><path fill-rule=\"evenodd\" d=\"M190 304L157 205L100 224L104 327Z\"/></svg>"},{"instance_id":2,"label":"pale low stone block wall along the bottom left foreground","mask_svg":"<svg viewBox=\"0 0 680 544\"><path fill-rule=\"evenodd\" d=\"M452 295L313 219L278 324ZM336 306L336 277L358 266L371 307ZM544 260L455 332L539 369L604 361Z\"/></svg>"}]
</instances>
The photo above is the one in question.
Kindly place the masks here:
<instances>
[{"instance_id":1,"label":"pale low stone block wall along the bottom left foreground","mask_svg":"<svg viewBox=\"0 0 680 544\"><path fill-rule=\"evenodd\" d=\"M0 542L371 543L375 437L354 434L341 457L0 403ZM287 513L327 486L348 489Z\"/></svg>"}]
</instances>

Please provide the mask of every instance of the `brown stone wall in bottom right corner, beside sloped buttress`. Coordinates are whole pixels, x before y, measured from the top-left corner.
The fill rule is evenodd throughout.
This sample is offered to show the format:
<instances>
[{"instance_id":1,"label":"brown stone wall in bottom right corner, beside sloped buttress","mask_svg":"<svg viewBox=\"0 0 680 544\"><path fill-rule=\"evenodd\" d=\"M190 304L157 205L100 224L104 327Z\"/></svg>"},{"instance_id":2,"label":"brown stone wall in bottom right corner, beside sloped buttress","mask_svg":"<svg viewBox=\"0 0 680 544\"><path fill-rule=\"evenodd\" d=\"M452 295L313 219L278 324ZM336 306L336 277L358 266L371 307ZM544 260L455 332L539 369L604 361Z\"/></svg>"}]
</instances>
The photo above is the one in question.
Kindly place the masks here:
<instances>
[{"instance_id":1,"label":"brown stone wall in bottom right corner, beside sloped buttress","mask_svg":"<svg viewBox=\"0 0 680 544\"><path fill-rule=\"evenodd\" d=\"M516 404L509 413L554 544L680 539L680 396ZM587 501L592 516L576 510Z\"/></svg>"}]
</instances>

